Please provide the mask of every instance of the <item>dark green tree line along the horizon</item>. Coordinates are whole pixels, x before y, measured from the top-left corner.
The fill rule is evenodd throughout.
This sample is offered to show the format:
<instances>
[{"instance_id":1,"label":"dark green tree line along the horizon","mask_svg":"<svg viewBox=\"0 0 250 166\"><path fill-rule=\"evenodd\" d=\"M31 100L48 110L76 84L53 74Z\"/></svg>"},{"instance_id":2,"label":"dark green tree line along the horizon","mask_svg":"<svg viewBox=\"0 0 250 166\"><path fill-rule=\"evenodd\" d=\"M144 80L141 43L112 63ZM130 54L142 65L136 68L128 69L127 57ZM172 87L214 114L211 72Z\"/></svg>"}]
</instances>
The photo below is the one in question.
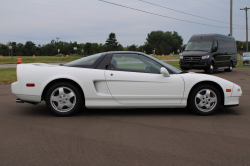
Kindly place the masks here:
<instances>
[{"instance_id":1,"label":"dark green tree line along the horizon","mask_svg":"<svg viewBox=\"0 0 250 166\"><path fill-rule=\"evenodd\" d=\"M245 50L245 42L236 41L238 52ZM138 46L132 44L130 46L122 46L116 39L115 33L110 33L105 44L102 43L77 43L75 42L65 42L51 40L48 44L38 44L36 45L32 41L27 41L25 44L8 42L7 44L0 43L0 55L8 56L9 48L12 46L14 56L55 56L58 54L58 49L60 49L60 54L77 54L77 55L92 55L100 52L106 51L140 51L146 52L147 54L152 54L153 50L158 55L170 53L177 53L177 50L182 50L185 45L183 45L182 37L175 31L152 31L147 34L146 41L144 45ZM241 48L243 46L243 48ZM73 48L77 47L77 50ZM249 46L250 47L250 46ZM83 51L82 51L83 50ZM250 48L249 48L250 50Z\"/></svg>"}]
</instances>

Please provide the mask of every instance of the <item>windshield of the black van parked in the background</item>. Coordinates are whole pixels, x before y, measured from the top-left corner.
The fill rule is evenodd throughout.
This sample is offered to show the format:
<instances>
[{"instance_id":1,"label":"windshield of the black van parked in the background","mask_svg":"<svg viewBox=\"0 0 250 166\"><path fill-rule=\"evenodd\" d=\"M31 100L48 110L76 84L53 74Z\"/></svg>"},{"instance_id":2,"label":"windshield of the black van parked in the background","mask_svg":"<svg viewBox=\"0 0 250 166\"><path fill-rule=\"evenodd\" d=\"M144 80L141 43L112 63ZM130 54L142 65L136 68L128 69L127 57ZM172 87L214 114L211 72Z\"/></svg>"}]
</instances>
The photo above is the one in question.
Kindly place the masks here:
<instances>
[{"instance_id":1,"label":"windshield of the black van parked in the background","mask_svg":"<svg viewBox=\"0 0 250 166\"><path fill-rule=\"evenodd\" d=\"M188 42L185 51L210 51L211 47L211 41L190 41Z\"/></svg>"}]
</instances>

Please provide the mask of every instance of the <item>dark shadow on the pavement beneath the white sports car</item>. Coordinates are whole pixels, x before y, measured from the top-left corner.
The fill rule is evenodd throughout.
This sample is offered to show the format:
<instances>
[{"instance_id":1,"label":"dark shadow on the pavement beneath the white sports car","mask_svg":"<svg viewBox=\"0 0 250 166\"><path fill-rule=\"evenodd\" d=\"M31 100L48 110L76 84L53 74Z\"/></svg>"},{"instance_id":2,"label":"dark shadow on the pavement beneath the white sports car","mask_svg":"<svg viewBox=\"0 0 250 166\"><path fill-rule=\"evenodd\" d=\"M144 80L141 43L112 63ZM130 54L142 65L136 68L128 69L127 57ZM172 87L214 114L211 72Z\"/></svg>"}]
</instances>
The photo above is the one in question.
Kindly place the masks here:
<instances>
[{"instance_id":1,"label":"dark shadow on the pavement beneath the white sports car","mask_svg":"<svg viewBox=\"0 0 250 166\"><path fill-rule=\"evenodd\" d=\"M24 107L16 111L19 115L25 116L54 116L46 107L45 103ZM86 109L81 108L74 116L200 116L194 114L188 108L142 108L142 109ZM216 115L240 115L232 108L220 107Z\"/></svg>"}]
</instances>

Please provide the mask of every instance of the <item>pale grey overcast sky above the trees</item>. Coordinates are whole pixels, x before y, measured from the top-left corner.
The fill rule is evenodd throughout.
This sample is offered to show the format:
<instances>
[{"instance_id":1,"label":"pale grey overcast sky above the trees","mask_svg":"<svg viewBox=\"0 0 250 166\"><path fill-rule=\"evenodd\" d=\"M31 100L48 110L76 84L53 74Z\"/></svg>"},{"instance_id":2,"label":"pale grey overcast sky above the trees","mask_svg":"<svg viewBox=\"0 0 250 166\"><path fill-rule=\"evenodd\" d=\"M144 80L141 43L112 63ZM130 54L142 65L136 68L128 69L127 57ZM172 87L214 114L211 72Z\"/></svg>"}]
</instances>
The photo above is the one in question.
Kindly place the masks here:
<instances>
[{"instance_id":1,"label":"pale grey overcast sky above the trees","mask_svg":"<svg viewBox=\"0 0 250 166\"><path fill-rule=\"evenodd\" d=\"M233 37L240 41L246 40L245 11L240 10L244 7L250 8L249 0L233 0ZM248 15L250 17L250 10ZM157 30L176 31L186 44L193 34L228 35L229 22L230 0L0 1L2 44L32 41L42 45L56 40L56 37L65 42L104 44L113 32L124 47L140 46L146 42L148 33Z\"/></svg>"}]
</instances>

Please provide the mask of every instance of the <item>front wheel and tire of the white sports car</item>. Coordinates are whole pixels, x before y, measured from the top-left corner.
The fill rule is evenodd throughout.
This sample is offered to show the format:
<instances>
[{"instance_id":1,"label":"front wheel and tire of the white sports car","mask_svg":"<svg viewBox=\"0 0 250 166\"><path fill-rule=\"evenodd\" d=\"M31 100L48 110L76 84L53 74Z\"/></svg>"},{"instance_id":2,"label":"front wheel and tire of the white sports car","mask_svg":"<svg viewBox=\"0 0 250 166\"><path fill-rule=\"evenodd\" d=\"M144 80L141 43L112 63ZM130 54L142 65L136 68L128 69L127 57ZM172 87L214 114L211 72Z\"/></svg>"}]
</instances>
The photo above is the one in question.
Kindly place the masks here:
<instances>
[{"instance_id":1,"label":"front wheel and tire of the white sports car","mask_svg":"<svg viewBox=\"0 0 250 166\"><path fill-rule=\"evenodd\" d=\"M196 114L211 115L220 107L219 91L211 85L204 84L195 87L188 97L188 107Z\"/></svg>"}]
</instances>

